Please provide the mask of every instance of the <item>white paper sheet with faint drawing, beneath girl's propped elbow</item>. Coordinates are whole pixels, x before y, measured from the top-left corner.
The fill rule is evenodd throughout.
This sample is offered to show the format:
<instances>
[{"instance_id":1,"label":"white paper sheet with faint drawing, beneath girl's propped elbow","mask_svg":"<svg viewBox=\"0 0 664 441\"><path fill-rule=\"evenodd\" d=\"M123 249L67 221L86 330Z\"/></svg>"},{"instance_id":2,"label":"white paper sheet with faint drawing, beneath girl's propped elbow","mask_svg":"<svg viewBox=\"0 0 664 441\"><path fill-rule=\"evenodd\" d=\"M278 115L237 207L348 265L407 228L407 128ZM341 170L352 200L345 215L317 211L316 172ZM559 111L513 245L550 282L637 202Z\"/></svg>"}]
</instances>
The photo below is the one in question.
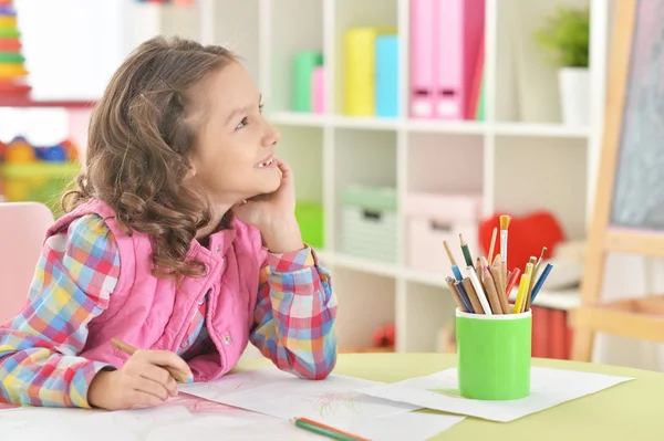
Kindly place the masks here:
<instances>
[{"instance_id":1,"label":"white paper sheet with faint drawing, beneath girl's propped elbow","mask_svg":"<svg viewBox=\"0 0 664 441\"><path fill-rule=\"evenodd\" d=\"M281 419L309 418L342 430L354 420L390 417L418 408L356 392L380 385L340 375L321 381L303 380L268 368L230 374L207 384L180 385L179 390Z\"/></svg>"}]
</instances>

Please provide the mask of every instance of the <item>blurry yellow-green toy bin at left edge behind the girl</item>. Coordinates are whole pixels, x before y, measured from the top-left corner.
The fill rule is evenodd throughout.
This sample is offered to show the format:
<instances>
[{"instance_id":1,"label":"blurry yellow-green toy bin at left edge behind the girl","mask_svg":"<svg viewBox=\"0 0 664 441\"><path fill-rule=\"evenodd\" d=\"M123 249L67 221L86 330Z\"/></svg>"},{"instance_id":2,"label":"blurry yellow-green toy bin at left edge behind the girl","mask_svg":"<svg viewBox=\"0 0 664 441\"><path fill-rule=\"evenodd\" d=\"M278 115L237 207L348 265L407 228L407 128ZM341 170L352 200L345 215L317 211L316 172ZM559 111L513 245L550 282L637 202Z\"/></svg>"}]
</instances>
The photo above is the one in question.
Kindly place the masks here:
<instances>
[{"instance_id":1,"label":"blurry yellow-green toy bin at left edge behind the girl","mask_svg":"<svg viewBox=\"0 0 664 441\"><path fill-rule=\"evenodd\" d=\"M2 165L3 193L9 202L46 204L55 218L62 214L60 199L81 170L77 162L29 162Z\"/></svg>"}]
</instances>

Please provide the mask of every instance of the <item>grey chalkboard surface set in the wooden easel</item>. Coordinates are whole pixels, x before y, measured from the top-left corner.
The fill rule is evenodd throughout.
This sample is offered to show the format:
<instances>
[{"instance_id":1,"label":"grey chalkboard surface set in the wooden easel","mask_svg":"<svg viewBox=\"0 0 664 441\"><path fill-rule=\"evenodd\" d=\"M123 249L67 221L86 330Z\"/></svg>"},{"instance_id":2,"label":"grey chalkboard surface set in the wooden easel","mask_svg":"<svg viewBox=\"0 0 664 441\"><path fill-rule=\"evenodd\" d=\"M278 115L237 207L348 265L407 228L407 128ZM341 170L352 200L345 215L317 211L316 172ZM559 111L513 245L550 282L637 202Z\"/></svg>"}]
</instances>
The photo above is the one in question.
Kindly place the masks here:
<instances>
[{"instance_id":1,"label":"grey chalkboard surface set in the wooden easel","mask_svg":"<svg viewBox=\"0 0 664 441\"><path fill-rule=\"evenodd\" d=\"M633 30L611 224L664 231L664 1L637 0Z\"/></svg>"}]
</instances>

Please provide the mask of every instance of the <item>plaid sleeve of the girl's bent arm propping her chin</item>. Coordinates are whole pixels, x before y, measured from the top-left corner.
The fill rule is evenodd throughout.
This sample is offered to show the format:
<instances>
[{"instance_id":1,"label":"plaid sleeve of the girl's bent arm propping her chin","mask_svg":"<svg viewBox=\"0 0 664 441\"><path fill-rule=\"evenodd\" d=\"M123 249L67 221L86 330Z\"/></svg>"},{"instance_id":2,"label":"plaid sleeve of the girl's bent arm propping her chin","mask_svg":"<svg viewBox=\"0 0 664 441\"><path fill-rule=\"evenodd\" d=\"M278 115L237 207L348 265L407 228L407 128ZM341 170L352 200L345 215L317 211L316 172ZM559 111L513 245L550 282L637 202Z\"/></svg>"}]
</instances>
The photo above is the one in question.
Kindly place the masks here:
<instances>
[{"instance_id":1,"label":"plaid sleeve of the girl's bent arm propping her chin","mask_svg":"<svg viewBox=\"0 0 664 441\"><path fill-rule=\"evenodd\" d=\"M336 297L315 251L269 253L260 273L251 343L282 370L323 379L336 363Z\"/></svg>"}]
</instances>

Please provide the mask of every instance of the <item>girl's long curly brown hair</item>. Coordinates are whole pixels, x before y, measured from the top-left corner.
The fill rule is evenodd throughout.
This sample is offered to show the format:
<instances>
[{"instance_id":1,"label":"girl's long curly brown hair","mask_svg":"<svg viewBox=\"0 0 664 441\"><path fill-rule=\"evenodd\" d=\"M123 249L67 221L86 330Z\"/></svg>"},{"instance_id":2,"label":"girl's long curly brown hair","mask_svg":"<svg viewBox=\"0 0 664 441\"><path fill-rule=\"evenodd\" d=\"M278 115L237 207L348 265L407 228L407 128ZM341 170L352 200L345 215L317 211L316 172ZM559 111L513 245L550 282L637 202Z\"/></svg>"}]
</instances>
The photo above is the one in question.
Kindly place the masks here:
<instances>
[{"instance_id":1,"label":"girl's long curly brown hair","mask_svg":"<svg viewBox=\"0 0 664 441\"><path fill-rule=\"evenodd\" d=\"M204 264L186 255L211 209L201 191L184 183L205 107L198 86L234 61L218 45L153 38L117 69L94 108L85 167L63 210L106 202L127 234L149 235L156 276L205 274Z\"/></svg>"}]
</instances>

